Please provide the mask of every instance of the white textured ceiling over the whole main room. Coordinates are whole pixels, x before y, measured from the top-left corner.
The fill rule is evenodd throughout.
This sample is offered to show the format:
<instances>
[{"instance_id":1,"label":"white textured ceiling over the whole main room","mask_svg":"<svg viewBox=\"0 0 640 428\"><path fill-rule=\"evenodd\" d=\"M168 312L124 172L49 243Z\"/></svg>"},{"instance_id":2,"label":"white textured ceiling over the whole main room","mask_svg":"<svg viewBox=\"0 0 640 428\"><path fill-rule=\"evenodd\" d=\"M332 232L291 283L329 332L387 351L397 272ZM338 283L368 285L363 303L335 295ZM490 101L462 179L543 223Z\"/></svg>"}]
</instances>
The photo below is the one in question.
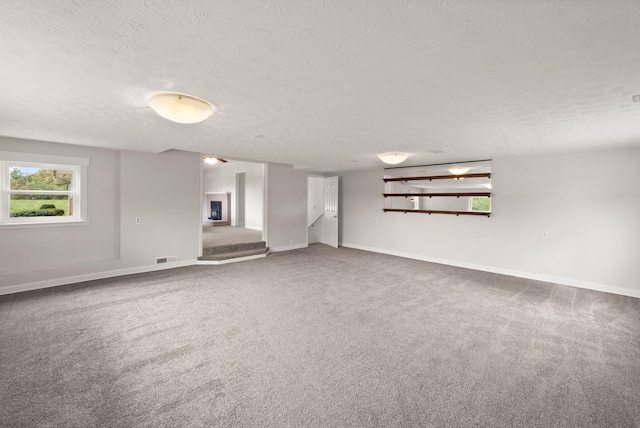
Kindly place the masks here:
<instances>
[{"instance_id":1,"label":"white textured ceiling over the whole main room","mask_svg":"<svg viewBox=\"0 0 640 428\"><path fill-rule=\"evenodd\" d=\"M639 0L0 2L10 137L344 171L638 147L635 94Z\"/></svg>"}]
</instances>

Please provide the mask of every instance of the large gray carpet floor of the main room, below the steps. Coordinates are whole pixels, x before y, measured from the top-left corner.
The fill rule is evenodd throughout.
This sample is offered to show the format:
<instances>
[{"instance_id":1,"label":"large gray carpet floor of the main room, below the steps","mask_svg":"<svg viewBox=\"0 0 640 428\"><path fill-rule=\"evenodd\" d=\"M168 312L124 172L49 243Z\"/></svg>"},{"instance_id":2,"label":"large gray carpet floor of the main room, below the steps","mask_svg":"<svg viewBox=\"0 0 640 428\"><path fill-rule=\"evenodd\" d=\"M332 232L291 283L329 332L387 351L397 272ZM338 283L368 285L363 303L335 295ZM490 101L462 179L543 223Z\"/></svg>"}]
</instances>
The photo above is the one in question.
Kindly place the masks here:
<instances>
[{"instance_id":1,"label":"large gray carpet floor of the main room, below the steps","mask_svg":"<svg viewBox=\"0 0 640 428\"><path fill-rule=\"evenodd\" d=\"M638 427L640 299L313 245L0 297L2 427Z\"/></svg>"}]
</instances>

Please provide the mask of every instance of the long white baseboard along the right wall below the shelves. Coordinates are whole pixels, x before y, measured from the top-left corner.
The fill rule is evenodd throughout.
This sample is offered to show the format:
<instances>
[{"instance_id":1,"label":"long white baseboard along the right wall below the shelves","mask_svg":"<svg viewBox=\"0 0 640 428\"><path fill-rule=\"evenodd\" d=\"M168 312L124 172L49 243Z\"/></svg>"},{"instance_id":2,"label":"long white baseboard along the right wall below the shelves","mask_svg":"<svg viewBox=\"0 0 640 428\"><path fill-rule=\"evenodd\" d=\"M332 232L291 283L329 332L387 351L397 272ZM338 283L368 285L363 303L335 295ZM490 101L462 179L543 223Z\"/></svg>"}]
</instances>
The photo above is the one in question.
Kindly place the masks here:
<instances>
[{"instance_id":1,"label":"long white baseboard along the right wall below the shelves","mask_svg":"<svg viewBox=\"0 0 640 428\"><path fill-rule=\"evenodd\" d=\"M568 286L577 287L577 288L585 288L587 290L602 291L602 292L605 292L605 293L619 294L619 295L622 295L622 296L640 298L640 290L633 290L633 289L630 289L630 288L615 287L615 286L612 286L612 285L598 284L598 283L595 283L595 282L580 281L580 280L576 280L576 279L561 278L561 277L550 276L550 275L541 275L541 274L532 273L532 272L524 272L524 271L512 270L512 269L503 269L503 268L497 268L497 267L493 267L493 266L476 265L476 264L472 264L472 263L463 263L463 262L458 262L458 261L455 261L455 260L447 260L447 259L439 259L439 258L434 258L434 257L420 256L420 255L416 255L416 254L403 253L403 252L399 252L399 251L382 250L380 248L367 247L367 246L364 246L364 245L356 245L356 244L350 244L350 243L345 243L345 242L341 242L340 245L343 246L343 247L346 247L346 248L353 248L353 249L356 249L356 250L371 251L372 253L387 254L387 255L390 255L390 256L404 257L404 258L407 258L407 259L420 260L420 261L423 261L423 262L439 263L439 264L443 264L443 265L457 266L457 267L466 268L466 269L479 270L479 271L482 271L482 272L491 272L491 273L497 273L497 274L500 274L500 275L515 276L515 277L518 277L518 278L533 279L533 280L536 280L536 281L551 282L551 283L554 283L554 284L568 285Z\"/></svg>"}]
</instances>

